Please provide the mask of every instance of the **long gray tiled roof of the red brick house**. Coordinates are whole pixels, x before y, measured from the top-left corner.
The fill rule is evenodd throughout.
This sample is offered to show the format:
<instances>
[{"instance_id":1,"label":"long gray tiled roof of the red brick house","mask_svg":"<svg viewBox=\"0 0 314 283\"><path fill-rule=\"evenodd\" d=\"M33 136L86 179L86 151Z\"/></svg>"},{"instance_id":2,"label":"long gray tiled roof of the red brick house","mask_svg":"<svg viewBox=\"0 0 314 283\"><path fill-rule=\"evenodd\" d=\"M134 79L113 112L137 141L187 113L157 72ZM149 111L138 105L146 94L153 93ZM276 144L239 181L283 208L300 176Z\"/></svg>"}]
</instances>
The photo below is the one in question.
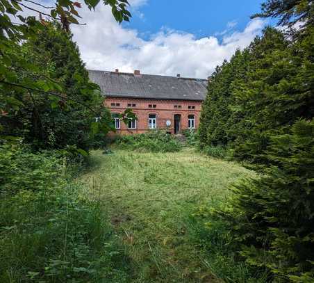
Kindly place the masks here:
<instances>
[{"instance_id":1,"label":"long gray tiled roof of the red brick house","mask_svg":"<svg viewBox=\"0 0 314 283\"><path fill-rule=\"evenodd\" d=\"M88 70L90 81L97 83L107 97L204 100L208 81L175 76Z\"/></svg>"}]
</instances>

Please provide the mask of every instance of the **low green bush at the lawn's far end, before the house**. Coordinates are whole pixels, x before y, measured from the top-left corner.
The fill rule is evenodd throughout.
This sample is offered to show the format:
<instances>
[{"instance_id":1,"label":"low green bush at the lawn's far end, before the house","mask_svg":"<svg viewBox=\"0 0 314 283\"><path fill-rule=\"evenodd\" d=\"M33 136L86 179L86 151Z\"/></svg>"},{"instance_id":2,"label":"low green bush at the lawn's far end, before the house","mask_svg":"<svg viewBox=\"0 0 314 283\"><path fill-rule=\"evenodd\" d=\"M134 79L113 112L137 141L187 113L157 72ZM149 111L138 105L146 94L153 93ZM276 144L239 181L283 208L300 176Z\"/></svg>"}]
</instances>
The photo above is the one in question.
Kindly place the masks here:
<instances>
[{"instance_id":1,"label":"low green bush at the lawn's far end, before the house","mask_svg":"<svg viewBox=\"0 0 314 283\"><path fill-rule=\"evenodd\" d=\"M122 149L144 152L179 152L182 149L179 140L162 130L149 131L145 134L120 136L117 138L116 145Z\"/></svg>"}]
</instances>

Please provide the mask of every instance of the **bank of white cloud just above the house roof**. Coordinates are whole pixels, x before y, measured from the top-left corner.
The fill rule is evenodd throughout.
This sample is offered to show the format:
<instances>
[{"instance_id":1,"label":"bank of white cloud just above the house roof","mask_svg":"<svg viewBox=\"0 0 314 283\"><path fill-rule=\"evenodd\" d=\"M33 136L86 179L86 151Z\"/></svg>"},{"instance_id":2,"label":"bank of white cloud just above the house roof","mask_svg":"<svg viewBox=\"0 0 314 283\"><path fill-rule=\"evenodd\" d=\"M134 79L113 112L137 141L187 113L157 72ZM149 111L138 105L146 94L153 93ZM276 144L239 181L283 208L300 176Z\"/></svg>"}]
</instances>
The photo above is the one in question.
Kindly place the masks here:
<instances>
[{"instance_id":1,"label":"bank of white cloud just above the house roof","mask_svg":"<svg viewBox=\"0 0 314 283\"><path fill-rule=\"evenodd\" d=\"M206 78L236 49L244 48L261 33L265 22L254 19L244 31L225 35L222 42L215 36L195 38L191 33L160 29L149 40L137 31L115 22L110 10L99 6L94 12L82 10L87 26L72 26L74 40L88 68L146 74L167 74ZM235 22L229 26L235 26Z\"/></svg>"}]
</instances>

